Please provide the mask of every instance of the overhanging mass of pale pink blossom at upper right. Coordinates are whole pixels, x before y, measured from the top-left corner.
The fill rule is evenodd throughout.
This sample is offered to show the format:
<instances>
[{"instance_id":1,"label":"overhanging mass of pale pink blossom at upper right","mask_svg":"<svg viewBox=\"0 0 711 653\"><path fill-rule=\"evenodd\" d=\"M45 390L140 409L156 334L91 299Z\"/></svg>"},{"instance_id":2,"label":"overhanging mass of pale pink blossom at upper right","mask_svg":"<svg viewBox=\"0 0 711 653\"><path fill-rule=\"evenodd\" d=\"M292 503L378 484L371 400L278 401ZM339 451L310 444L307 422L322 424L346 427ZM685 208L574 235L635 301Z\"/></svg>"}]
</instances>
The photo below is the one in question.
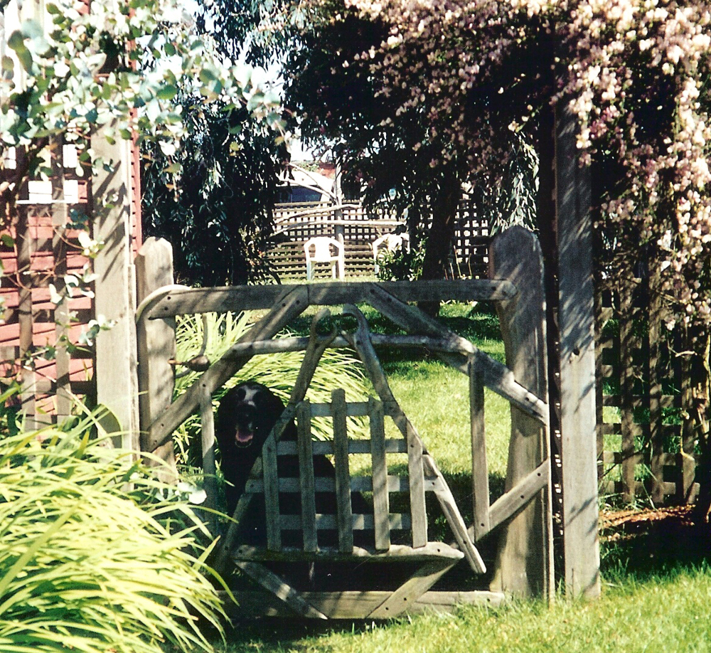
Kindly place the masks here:
<instances>
[{"instance_id":1,"label":"overhanging mass of pale pink blossom at upper right","mask_svg":"<svg viewBox=\"0 0 711 653\"><path fill-rule=\"evenodd\" d=\"M433 137L444 144L433 166L464 158L470 172L493 171L496 181L511 134L540 143L550 138L538 122L551 107L574 113L578 151L594 164L599 226L622 263L615 278L631 275L630 261L644 248L660 273L668 327L681 327L690 417L707 457L702 469L711 470L707 2L311 0L309 7L324 31L346 33L355 20L378 26L380 41L358 53L333 43L338 65L324 83L355 67L387 107L383 132L424 120L410 154Z\"/></svg>"}]
</instances>

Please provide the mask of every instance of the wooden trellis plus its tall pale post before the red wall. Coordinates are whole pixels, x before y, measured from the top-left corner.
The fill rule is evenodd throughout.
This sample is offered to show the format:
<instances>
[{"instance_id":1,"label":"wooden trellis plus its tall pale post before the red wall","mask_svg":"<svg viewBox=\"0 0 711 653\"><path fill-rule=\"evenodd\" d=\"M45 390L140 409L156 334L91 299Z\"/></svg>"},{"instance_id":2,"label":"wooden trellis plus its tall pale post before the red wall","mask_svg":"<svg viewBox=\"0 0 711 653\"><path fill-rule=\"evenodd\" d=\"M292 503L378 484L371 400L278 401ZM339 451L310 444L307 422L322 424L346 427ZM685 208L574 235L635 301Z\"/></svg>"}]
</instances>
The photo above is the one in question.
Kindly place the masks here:
<instances>
[{"instance_id":1,"label":"wooden trellis plus its tall pale post before the red wall","mask_svg":"<svg viewBox=\"0 0 711 653\"><path fill-rule=\"evenodd\" d=\"M92 174L78 160L74 144L52 141L43 153L49 179L18 187L18 219L10 225L11 240L0 243L0 294L6 308L0 354L8 367L22 363L16 376L23 384L25 428L70 415L74 398L86 396L90 405L102 403L112 410L122 428L107 428L122 432L124 444L132 446L137 418L129 418L133 411L127 407L137 394L135 336L125 317L135 308L132 260L141 240L138 151L128 142L109 144L100 135L92 137L92 150L115 161L115 168ZM0 174L13 179L25 169L26 155L17 148L4 156ZM80 243L86 225L102 243L93 260L83 255ZM88 292L75 289L55 304L50 285L63 295L82 277L85 265L95 275L92 285L82 288ZM116 326L93 343L80 343L81 332L96 316Z\"/></svg>"}]
</instances>

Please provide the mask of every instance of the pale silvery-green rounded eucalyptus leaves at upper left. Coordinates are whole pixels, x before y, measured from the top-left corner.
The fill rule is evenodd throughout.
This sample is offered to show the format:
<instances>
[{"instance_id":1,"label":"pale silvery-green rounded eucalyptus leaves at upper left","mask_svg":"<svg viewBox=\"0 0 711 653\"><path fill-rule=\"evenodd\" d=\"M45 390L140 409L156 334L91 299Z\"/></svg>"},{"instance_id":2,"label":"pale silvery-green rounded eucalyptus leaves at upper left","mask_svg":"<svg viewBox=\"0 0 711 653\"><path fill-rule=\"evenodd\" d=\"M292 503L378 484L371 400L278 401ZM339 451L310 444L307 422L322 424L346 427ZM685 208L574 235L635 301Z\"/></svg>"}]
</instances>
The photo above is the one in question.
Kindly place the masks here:
<instances>
[{"instance_id":1,"label":"pale silvery-green rounded eucalyptus leaves at upper left","mask_svg":"<svg viewBox=\"0 0 711 653\"><path fill-rule=\"evenodd\" d=\"M43 16L26 9L21 18L28 19L7 35L0 75L3 227L16 217L23 184L51 174L50 149L75 145L80 175L115 163L92 149L92 134L109 144L151 140L170 156L186 133L181 89L201 105L246 106L260 124L279 125L277 102L255 83L252 68L224 60L209 36L189 27L176 1L95 0L91 11L82 7L54 0L41 5ZM23 156L6 156L16 146ZM95 211L110 203L97 200Z\"/></svg>"}]
</instances>

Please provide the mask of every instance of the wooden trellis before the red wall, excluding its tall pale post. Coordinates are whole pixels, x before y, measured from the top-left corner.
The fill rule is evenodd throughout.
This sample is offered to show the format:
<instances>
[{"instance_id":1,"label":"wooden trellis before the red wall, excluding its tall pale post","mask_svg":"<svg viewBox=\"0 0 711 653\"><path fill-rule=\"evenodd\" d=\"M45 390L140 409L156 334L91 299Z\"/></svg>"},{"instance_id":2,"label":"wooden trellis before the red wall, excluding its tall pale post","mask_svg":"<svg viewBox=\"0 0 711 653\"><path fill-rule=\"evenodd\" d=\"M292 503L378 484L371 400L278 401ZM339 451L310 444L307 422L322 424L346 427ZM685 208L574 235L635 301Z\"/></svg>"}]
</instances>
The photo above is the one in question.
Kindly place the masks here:
<instances>
[{"instance_id":1,"label":"wooden trellis before the red wall, excluding its tall pale post","mask_svg":"<svg viewBox=\"0 0 711 653\"><path fill-rule=\"evenodd\" d=\"M23 413L27 428L69 415L72 395L92 391L92 351L78 349L69 354L58 346L54 358L41 349L77 337L92 316L89 297L77 296L58 306L50 302L50 284L58 292L65 288L65 275L77 273L87 263L70 228L70 209L87 213L87 181L77 176L72 146L61 143L48 148L53 175L49 181L29 181L20 191L18 221L10 235L14 242L0 244L3 284L0 294L6 312L0 326L2 360L29 360L23 366ZM23 150L15 149L6 161L9 171L23 166Z\"/></svg>"}]
</instances>

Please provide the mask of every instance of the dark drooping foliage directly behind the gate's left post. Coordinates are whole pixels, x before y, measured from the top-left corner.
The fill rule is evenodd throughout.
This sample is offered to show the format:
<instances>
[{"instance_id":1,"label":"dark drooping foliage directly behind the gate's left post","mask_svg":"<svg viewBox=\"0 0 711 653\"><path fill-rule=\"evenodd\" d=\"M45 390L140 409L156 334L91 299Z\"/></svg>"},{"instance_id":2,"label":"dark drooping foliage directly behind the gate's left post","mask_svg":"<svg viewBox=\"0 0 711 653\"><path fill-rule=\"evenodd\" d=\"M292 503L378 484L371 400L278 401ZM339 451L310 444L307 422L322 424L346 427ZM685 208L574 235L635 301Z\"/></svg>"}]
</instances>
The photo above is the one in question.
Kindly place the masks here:
<instances>
[{"instance_id":1,"label":"dark drooping foliage directly behind the gate's left post","mask_svg":"<svg viewBox=\"0 0 711 653\"><path fill-rule=\"evenodd\" d=\"M274 135L245 108L226 112L183 102L187 137L170 157L149 146L144 167L144 233L173 245L173 269L189 285L265 280L280 152Z\"/></svg>"}]
</instances>

